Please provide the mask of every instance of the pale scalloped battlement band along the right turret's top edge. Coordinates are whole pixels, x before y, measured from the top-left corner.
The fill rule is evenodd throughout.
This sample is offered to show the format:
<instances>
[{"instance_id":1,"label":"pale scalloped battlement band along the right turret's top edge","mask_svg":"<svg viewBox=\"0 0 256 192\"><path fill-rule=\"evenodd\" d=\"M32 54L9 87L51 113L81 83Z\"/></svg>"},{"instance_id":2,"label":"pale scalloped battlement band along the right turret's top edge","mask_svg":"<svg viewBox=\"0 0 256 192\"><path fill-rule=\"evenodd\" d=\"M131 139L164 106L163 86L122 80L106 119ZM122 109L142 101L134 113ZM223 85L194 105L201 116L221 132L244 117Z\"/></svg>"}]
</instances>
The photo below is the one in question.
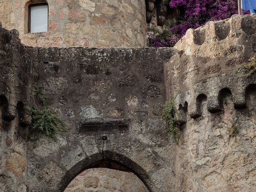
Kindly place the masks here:
<instances>
[{"instance_id":1,"label":"pale scalloped battlement band along the right turret's top edge","mask_svg":"<svg viewBox=\"0 0 256 192\"><path fill-rule=\"evenodd\" d=\"M193 46L202 46L212 42L239 38L240 36L251 36L256 30L256 14L233 15L231 18L220 21L210 21L204 26L196 29L188 29L186 34L174 46L179 51L192 54ZM232 41L232 40L231 40ZM191 50L188 50L190 47Z\"/></svg>"}]
</instances>

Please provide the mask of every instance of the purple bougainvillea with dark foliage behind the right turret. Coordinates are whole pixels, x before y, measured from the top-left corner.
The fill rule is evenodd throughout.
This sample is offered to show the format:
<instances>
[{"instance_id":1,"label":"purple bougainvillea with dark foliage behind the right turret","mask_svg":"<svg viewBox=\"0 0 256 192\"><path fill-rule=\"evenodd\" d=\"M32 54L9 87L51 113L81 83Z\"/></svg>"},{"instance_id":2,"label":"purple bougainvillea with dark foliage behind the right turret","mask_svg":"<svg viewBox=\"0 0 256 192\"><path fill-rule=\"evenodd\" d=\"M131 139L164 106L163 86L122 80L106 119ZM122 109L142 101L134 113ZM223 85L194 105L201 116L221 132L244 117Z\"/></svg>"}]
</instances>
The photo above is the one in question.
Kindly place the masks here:
<instances>
[{"instance_id":1,"label":"purple bougainvillea with dark foliage behind the right turret","mask_svg":"<svg viewBox=\"0 0 256 192\"><path fill-rule=\"evenodd\" d=\"M237 0L170 0L169 6L179 8L183 14L175 25L167 25L161 32L156 29L150 30L149 46L174 46L189 28L195 29L208 21L223 20L238 14Z\"/></svg>"}]
</instances>

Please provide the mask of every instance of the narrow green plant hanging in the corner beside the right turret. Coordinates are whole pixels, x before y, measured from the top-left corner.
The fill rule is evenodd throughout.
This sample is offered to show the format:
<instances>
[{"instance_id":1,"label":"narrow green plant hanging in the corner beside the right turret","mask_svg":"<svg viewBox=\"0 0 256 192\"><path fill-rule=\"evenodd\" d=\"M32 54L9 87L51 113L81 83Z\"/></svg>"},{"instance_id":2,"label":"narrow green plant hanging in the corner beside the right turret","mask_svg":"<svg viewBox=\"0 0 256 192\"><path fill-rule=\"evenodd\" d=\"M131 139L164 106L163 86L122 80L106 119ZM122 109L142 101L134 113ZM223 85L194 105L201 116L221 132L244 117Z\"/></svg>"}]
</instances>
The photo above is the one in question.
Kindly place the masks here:
<instances>
[{"instance_id":1,"label":"narrow green plant hanging in the corner beside the right turret","mask_svg":"<svg viewBox=\"0 0 256 192\"><path fill-rule=\"evenodd\" d=\"M162 118L166 120L168 129L172 134L172 137L176 143L178 143L178 139L180 138L180 133L178 131L178 126L175 124L174 115L177 112L174 99L170 98L170 100L166 101L164 104L164 108L162 111Z\"/></svg>"}]
</instances>

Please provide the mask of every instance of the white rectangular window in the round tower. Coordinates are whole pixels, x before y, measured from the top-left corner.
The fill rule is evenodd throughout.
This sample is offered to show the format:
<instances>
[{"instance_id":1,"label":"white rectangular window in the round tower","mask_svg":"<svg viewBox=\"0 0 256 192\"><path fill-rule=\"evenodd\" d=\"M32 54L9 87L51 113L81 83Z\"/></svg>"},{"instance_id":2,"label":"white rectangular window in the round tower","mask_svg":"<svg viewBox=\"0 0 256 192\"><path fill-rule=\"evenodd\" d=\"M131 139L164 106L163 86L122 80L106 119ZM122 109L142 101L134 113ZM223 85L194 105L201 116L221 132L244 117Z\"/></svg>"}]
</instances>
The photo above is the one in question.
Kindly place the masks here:
<instances>
[{"instance_id":1,"label":"white rectangular window in the round tower","mask_svg":"<svg viewBox=\"0 0 256 192\"><path fill-rule=\"evenodd\" d=\"M48 4L30 4L28 11L28 31L30 33L47 32Z\"/></svg>"}]
</instances>

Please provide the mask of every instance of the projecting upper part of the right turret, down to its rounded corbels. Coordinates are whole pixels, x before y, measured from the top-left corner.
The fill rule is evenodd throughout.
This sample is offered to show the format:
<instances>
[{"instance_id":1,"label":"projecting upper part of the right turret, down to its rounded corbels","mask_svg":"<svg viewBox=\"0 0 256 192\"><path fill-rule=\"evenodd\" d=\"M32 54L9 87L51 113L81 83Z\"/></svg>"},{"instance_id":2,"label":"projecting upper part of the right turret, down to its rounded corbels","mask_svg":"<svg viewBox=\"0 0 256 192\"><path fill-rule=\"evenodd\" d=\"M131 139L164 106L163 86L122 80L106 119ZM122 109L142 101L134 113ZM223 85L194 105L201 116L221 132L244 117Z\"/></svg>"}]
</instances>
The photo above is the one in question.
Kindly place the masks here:
<instances>
[{"instance_id":1,"label":"projecting upper part of the right turret, down to its rounded corbels","mask_svg":"<svg viewBox=\"0 0 256 192\"><path fill-rule=\"evenodd\" d=\"M256 52L256 15L233 15L208 22L186 35L174 46L176 54L166 64L167 95L175 97L178 121L183 124L202 114L207 99L211 113L222 110L222 96L232 94L234 108L246 108L248 89L256 76L246 75L244 63Z\"/></svg>"}]
</instances>

